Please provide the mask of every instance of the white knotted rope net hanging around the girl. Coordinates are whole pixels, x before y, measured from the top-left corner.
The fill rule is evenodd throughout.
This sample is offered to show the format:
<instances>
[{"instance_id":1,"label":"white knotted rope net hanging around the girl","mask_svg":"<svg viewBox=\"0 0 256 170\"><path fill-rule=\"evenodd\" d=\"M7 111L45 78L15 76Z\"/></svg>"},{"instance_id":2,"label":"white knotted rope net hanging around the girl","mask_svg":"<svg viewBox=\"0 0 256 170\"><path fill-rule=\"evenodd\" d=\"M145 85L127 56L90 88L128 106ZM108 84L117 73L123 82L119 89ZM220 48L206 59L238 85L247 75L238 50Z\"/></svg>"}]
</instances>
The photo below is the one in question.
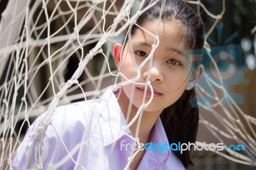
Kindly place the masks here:
<instances>
[{"instance_id":1,"label":"white knotted rope net hanging around the girl","mask_svg":"<svg viewBox=\"0 0 256 170\"><path fill-rule=\"evenodd\" d=\"M46 112L44 123L47 124L57 105L98 98L108 85L115 83L111 80L121 73L113 71L113 62L109 62L111 45L143 12L138 10L131 16L132 6L140 9L143 3L132 0L8 2L0 24L0 169L8 169L22 141L22 128L30 126L36 117ZM204 10L215 20L207 30L210 36L225 13L225 0L218 1L223 10L217 15L209 12L200 1L186 3L195 4L198 13ZM70 67L71 61L78 64ZM70 77L68 68L76 68ZM136 79L129 80L134 81ZM208 81L212 84L211 79ZM145 105L141 105L142 110ZM216 107L220 109L218 112ZM216 152L235 162L256 166L256 119L243 112L234 101L228 107L219 102L213 107L202 108L201 112L205 110L221 126L205 120L204 114L200 116L200 123L221 143L227 138L246 146L243 153ZM44 130L38 133L40 136ZM37 163L39 165L40 161Z\"/></svg>"}]
</instances>

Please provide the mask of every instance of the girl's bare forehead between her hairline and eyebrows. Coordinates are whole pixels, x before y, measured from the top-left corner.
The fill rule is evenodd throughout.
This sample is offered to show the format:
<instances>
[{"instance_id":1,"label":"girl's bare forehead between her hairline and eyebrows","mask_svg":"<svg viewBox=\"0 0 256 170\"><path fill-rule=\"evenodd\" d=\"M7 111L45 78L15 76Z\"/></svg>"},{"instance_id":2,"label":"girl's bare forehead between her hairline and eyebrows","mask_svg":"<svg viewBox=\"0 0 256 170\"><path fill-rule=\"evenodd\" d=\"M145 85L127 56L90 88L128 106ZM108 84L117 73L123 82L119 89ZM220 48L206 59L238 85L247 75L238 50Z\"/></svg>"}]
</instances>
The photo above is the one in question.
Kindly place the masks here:
<instances>
[{"instance_id":1,"label":"girl's bare forehead between her hairline and eyebrows","mask_svg":"<svg viewBox=\"0 0 256 170\"><path fill-rule=\"evenodd\" d=\"M185 50L185 38L179 21L152 20L138 27L132 35L132 43L144 41L152 45L159 38L159 47Z\"/></svg>"}]
</instances>

